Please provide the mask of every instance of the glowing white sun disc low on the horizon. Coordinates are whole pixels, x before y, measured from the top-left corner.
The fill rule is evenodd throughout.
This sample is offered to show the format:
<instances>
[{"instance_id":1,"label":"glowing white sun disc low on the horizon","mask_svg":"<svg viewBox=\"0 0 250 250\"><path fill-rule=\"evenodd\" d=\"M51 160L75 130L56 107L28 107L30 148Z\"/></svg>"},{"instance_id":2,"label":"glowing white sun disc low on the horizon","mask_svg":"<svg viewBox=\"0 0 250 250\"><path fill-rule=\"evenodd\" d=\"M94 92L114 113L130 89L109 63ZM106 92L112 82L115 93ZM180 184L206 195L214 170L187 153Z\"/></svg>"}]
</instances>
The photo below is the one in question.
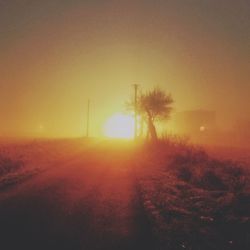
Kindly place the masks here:
<instances>
[{"instance_id":1,"label":"glowing white sun disc low on the horizon","mask_svg":"<svg viewBox=\"0 0 250 250\"><path fill-rule=\"evenodd\" d=\"M134 118L130 115L115 114L104 124L104 135L110 138L132 139Z\"/></svg>"}]
</instances>

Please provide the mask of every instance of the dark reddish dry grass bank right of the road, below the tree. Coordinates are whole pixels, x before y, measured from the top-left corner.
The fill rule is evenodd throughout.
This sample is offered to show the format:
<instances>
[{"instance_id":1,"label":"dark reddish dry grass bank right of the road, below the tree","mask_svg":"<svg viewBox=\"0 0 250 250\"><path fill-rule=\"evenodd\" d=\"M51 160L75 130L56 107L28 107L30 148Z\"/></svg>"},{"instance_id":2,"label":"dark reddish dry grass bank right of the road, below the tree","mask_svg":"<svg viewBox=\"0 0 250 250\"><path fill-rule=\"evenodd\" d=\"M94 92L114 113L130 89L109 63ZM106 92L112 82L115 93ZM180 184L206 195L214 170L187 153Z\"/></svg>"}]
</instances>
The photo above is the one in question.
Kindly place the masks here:
<instances>
[{"instance_id":1,"label":"dark reddish dry grass bank right of the road, below the tree","mask_svg":"<svg viewBox=\"0 0 250 250\"><path fill-rule=\"evenodd\" d=\"M249 249L247 166L171 140L144 147L139 157L140 191L159 249Z\"/></svg>"}]
</instances>

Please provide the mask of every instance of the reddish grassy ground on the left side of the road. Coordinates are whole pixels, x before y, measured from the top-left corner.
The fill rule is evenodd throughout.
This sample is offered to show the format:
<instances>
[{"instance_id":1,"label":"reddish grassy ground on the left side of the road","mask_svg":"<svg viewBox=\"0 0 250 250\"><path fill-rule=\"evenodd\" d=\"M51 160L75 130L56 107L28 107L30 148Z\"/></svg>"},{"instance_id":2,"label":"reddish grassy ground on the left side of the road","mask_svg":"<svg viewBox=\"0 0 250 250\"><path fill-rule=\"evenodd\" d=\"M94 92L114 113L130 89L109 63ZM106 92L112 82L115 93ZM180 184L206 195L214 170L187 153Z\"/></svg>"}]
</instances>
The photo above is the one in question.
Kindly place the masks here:
<instances>
[{"instance_id":1,"label":"reddish grassy ground on the left side of the road","mask_svg":"<svg viewBox=\"0 0 250 250\"><path fill-rule=\"evenodd\" d=\"M82 149L78 140L0 142L0 192L51 167Z\"/></svg>"}]
</instances>

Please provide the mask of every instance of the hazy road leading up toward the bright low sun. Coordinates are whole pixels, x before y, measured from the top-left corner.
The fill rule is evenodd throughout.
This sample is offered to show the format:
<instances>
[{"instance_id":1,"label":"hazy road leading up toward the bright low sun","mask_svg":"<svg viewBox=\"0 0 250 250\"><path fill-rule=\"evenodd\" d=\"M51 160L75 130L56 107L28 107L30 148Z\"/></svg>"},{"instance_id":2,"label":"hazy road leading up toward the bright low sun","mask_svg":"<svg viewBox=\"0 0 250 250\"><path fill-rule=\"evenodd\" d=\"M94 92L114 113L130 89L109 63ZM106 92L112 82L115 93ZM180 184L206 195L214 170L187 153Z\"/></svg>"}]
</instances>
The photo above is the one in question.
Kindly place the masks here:
<instances>
[{"instance_id":1,"label":"hazy road leading up toward the bright low sun","mask_svg":"<svg viewBox=\"0 0 250 250\"><path fill-rule=\"evenodd\" d=\"M153 249L123 149L85 150L0 193L1 249Z\"/></svg>"}]
</instances>

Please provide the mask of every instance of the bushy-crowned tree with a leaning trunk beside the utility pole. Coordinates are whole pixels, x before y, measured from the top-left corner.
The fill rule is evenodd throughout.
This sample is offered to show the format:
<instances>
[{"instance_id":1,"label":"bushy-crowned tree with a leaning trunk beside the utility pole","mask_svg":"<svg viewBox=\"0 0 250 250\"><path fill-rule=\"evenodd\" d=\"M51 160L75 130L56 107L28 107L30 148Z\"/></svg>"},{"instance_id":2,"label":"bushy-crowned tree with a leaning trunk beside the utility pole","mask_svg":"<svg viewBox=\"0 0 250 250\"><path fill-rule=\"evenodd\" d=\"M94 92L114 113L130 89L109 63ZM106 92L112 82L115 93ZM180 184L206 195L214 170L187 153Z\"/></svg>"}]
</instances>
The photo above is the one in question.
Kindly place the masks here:
<instances>
[{"instance_id":1,"label":"bushy-crowned tree with a leaning trunk beside the utility pole","mask_svg":"<svg viewBox=\"0 0 250 250\"><path fill-rule=\"evenodd\" d=\"M173 99L171 94L166 94L160 88L154 88L141 94L138 100L138 112L146 115L148 125L148 135L153 141L157 140L155 121L168 119L172 111Z\"/></svg>"}]
</instances>

